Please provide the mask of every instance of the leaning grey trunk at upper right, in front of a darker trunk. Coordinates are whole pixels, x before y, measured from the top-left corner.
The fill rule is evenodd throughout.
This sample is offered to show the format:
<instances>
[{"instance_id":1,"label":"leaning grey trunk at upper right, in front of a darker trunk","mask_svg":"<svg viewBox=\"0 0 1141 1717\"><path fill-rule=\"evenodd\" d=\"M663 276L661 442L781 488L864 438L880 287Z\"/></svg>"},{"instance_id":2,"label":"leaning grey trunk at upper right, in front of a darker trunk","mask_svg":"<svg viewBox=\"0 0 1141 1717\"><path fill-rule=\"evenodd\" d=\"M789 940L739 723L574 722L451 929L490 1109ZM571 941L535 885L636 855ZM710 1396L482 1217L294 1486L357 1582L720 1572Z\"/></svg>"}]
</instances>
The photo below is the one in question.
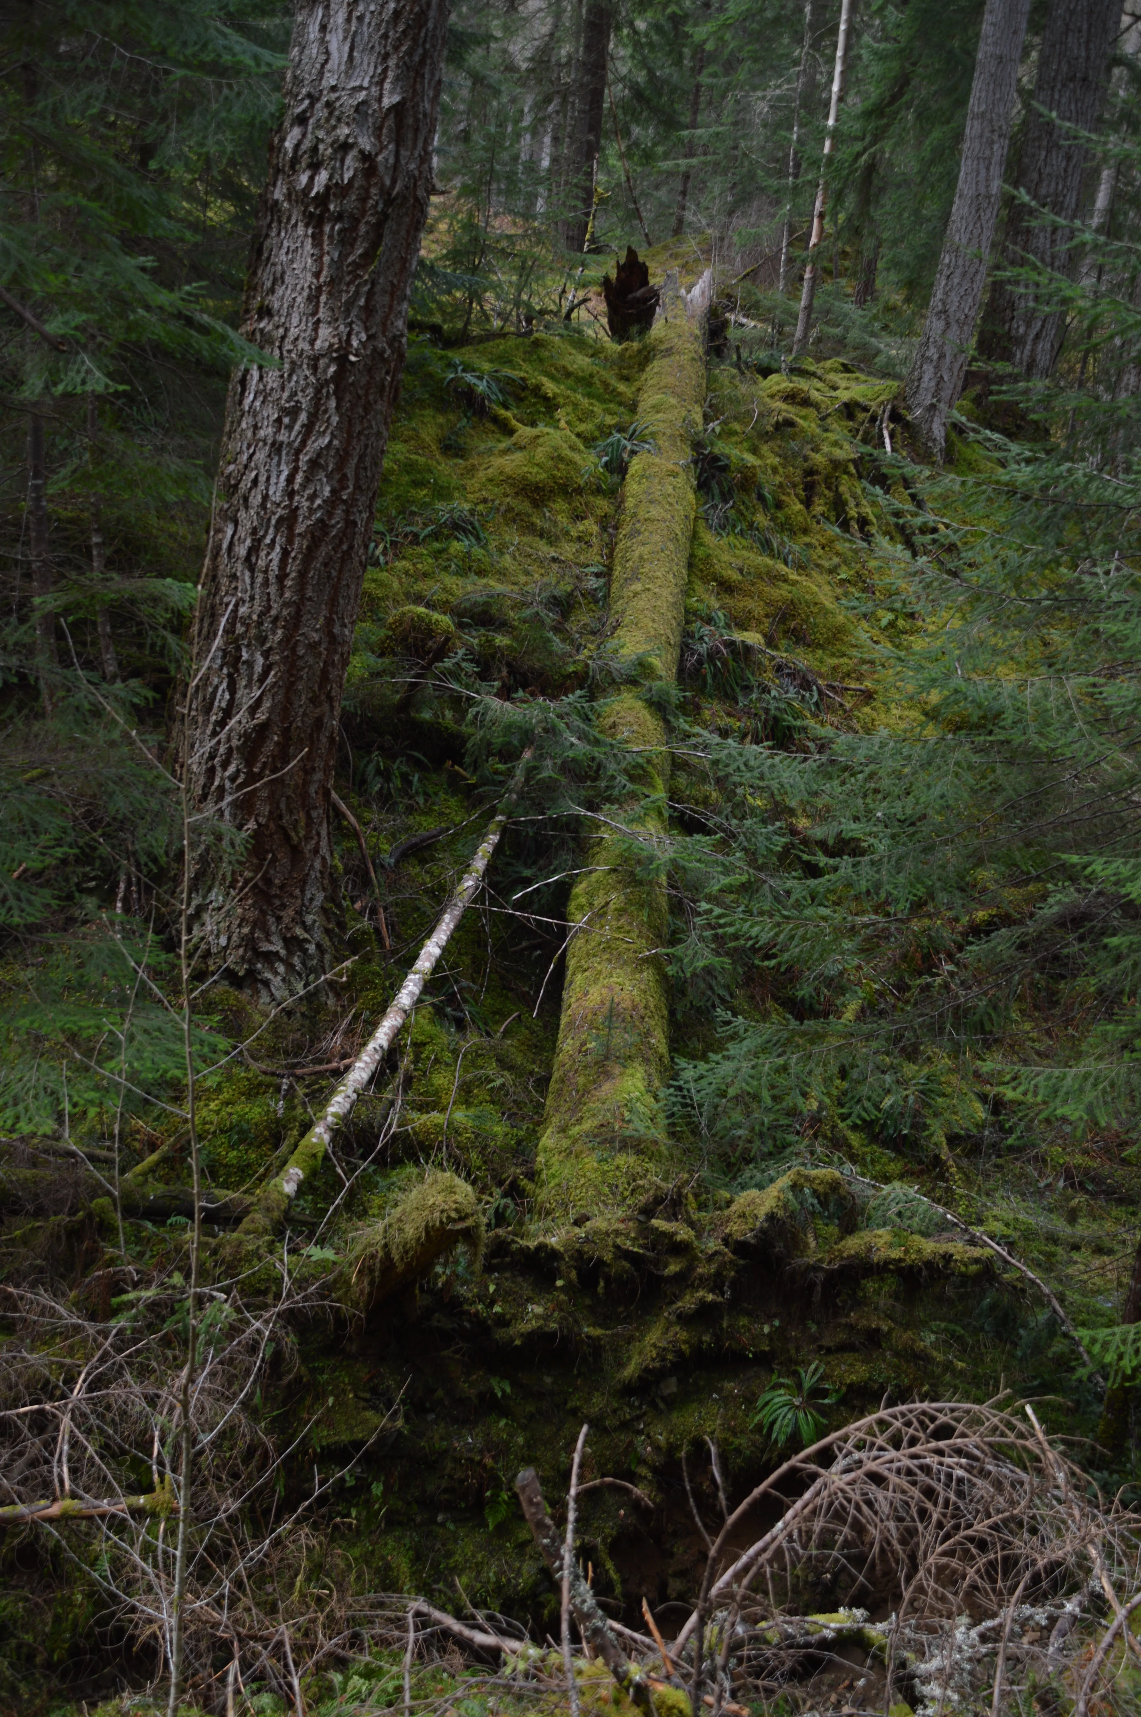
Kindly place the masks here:
<instances>
[{"instance_id":1,"label":"leaning grey trunk at upper right, in front of a darker trunk","mask_svg":"<svg viewBox=\"0 0 1141 1717\"><path fill-rule=\"evenodd\" d=\"M963 391L975 319L983 300L1028 14L1029 0L987 0L959 184L908 376L911 419L937 458L944 457L947 414Z\"/></svg>"}]
</instances>

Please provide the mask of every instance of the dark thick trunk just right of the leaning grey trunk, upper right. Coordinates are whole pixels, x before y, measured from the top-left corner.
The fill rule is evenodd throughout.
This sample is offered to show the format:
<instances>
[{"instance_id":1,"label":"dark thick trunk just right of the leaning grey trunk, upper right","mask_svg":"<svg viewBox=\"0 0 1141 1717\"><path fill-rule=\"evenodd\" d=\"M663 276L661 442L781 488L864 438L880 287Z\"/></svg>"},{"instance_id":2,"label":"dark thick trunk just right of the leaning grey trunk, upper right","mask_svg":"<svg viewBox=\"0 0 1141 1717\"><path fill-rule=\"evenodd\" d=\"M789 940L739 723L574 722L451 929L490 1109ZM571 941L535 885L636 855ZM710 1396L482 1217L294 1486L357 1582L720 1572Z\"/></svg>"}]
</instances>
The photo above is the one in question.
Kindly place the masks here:
<instances>
[{"instance_id":1,"label":"dark thick trunk just right of the leaning grey trunk, upper right","mask_svg":"<svg viewBox=\"0 0 1141 1717\"><path fill-rule=\"evenodd\" d=\"M1071 223L1081 215L1088 161L1071 127L1093 130L1098 122L1119 17L1120 0L1053 0L1050 7L1014 187L1062 225L1045 223L1035 208L1014 203L1002 246L1007 268L1038 263L1071 273ZM995 280L978 349L1041 379L1053 369L1062 331L1060 311L1041 309L1028 287Z\"/></svg>"}]
</instances>

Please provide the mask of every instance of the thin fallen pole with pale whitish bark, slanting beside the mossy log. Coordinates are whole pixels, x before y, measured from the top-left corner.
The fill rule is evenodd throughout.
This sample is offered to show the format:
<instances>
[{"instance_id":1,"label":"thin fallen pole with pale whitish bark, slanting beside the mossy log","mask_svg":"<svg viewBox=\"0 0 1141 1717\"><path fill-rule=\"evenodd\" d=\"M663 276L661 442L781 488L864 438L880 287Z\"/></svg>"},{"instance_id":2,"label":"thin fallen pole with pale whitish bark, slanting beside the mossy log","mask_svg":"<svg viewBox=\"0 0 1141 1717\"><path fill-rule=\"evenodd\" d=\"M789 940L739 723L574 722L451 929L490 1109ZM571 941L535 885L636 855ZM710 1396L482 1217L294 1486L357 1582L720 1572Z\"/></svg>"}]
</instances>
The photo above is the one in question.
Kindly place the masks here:
<instances>
[{"instance_id":1,"label":"thin fallen pole with pale whitish bark, slanting beside the mossy log","mask_svg":"<svg viewBox=\"0 0 1141 1717\"><path fill-rule=\"evenodd\" d=\"M238 1228L240 1238L256 1240L276 1233L276 1229L285 1223L290 1205L293 1204L293 1198L297 1197L305 1178L312 1178L321 1168L333 1133L345 1125L355 1107L357 1097L371 1083L381 1061L396 1041L396 1032L420 999L424 984L432 975L436 962L451 939L451 932L482 888L491 855L499 845L499 836L503 834L508 817L511 816L511 807L515 804L528 757L530 752L525 752L503 805L491 819L487 833L484 834L472 864L463 874L455 895L444 907L436 929L424 943L419 960L400 986L396 999L353 1061L345 1078L333 1092L324 1114L321 1114L321 1118L309 1128L281 1173L276 1174L261 1192L257 1204Z\"/></svg>"}]
</instances>

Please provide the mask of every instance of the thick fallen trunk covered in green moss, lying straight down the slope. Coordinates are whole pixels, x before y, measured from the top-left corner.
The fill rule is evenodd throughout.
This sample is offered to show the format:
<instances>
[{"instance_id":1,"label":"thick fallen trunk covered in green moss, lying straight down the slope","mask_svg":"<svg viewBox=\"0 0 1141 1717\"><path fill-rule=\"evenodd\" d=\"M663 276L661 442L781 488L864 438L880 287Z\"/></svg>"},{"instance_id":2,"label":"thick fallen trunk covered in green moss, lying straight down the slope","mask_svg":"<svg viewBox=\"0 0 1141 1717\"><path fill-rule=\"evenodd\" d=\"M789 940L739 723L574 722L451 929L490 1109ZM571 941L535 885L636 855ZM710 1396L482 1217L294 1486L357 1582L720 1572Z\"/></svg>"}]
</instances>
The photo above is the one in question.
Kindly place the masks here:
<instances>
[{"instance_id":1,"label":"thick fallen trunk covered in green moss, lying straight down the slope","mask_svg":"<svg viewBox=\"0 0 1141 1717\"><path fill-rule=\"evenodd\" d=\"M654 441L630 465L611 573L611 647L649 685L674 680L697 512L690 446L702 426L705 357L697 323L674 304L650 338L638 419ZM637 752L637 798L609 805L587 833L568 908L563 1013L539 1145L552 1212L626 1205L655 1173L661 1092L669 1073L664 944L669 752L662 718L637 690L601 714Z\"/></svg>"}]
</instances>

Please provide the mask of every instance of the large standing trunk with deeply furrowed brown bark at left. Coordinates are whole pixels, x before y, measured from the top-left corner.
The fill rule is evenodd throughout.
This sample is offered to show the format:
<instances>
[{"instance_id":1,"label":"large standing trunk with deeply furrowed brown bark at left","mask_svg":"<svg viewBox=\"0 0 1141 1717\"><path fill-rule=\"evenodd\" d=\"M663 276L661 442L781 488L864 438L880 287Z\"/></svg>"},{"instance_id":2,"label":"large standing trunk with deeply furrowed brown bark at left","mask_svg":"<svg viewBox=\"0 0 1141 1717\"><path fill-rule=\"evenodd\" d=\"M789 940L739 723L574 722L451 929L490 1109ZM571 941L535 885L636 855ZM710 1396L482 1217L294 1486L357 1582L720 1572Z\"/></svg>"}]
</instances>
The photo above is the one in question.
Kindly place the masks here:
<instances>
[{"instance_id":1,"label":"large standing trunk with deeply furrowed brown bark at left","mask_svg":"<svg viewBox=\"0 0 1141 1717\"><path fill-rule=\"evenodd\" d=\"M446 0L300 0L249 270L187 697L194 927L235 980L314 977L341 690L427 213Z\"/></svg>"}]
</instances>

